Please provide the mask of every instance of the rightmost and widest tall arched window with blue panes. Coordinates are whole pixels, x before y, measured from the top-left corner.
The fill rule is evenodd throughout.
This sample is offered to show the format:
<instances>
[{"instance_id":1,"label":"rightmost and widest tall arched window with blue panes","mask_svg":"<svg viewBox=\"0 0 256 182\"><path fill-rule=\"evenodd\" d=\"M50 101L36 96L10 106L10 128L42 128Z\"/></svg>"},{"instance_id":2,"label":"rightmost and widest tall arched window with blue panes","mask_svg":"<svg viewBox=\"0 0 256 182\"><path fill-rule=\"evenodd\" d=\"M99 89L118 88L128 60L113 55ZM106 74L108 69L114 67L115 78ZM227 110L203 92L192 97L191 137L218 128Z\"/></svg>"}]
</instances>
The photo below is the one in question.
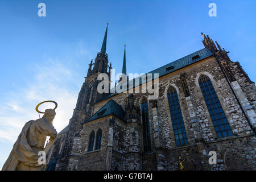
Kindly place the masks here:
<instances>
[{"instance_id":1,"label":"rightmost and widest tall arched window with blue panes","mask_svg":"<svg viewBox=\"0 0 256 182\"><path fill-rule=\"evenodd\" d=\"M199 77L199 85L218 138L232 136L233 132L229 126L228 119L226 119L226 115L221 107L210 78L201 75Z\"/></svg>"}]
</instances>

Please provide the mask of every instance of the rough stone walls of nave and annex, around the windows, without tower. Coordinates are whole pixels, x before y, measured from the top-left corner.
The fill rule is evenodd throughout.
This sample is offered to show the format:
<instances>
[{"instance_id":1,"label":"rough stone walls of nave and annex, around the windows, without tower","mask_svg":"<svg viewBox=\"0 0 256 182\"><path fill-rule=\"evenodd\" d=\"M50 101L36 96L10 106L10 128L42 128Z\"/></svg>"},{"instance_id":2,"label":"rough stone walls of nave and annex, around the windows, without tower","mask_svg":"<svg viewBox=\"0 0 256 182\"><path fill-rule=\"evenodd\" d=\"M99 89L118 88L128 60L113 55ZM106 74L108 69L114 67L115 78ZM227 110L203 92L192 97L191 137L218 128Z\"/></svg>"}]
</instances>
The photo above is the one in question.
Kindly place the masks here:
<instances>
[{"instance_id":1,"label":"rough stone walls of nave and annex, around the windows, without tower","mask_svg":"<svg viewBox=\"0 0 256 182\"><path fill-rule=\"evenodd\" d=\"M180 80L180 75L184 73L190 94L189 97L185 96ZM198 83L200 75L206 75L212 81L234 136L217 138ZM239 80L238 75L236 76L237 80ZM243 82L245 81L243 80ZM176 89L188 137L189 144L183 147L177 147L175 144L167 100L167 90L170 86ZM248 84L247 86L246 84L245 86L241 85L241 88L247 89L245 91L246 96L251 98L250 104L255 105L255 93L251 91L253 89L249 88ZM179 169L177 164L179 155L185 159L185 170L255 169L255 138L252 137L252 132L245 115L242 113L241 107L234 97L214 56L161 77L159 79L159 90L157 107L154 112L152 110L152 102L148 101L152 152L144 154L143 139L141 138L143 129L138 124L124 123L117 119L114 124L113 133L112 163L110 164L112 170L115 167L118 170L132 170L134 167L135 169L143 170L177 170ZM126 97L128 95L128 93L118 94L113 97L113 100L125 110L127 105ZM147 94L134 94L134 105L141 108L143 97L147 98ZM93 113L96 113L109 100L110 98L94 105ZM155 116L157 115L158 122L154 122L153 113ZM195 117L192 118L191 113L195 114ZM98 170L106 166L106 145L109 134L108 119L98 119L84 125L80 132L80 137L76 137L74 140L72 159L69 162L72 169L76 169L75 166L77 166L79 170ZM141 121L139 123L141 125ZM94 130L96 133L99 127L102 129L101 150L86 153L90 131ZM155 131L156 128L158 131ZM203 140L201 140L203 144L197 141L198 138L195 136L195 130L203 137ZM133 131L135 131L135 134ZM157 146L155 145L155 132L158 132ZM210 166L208 163L208 153L212 150L217 152L218 160L216 165Z\"/></svg>"}]
</instances>

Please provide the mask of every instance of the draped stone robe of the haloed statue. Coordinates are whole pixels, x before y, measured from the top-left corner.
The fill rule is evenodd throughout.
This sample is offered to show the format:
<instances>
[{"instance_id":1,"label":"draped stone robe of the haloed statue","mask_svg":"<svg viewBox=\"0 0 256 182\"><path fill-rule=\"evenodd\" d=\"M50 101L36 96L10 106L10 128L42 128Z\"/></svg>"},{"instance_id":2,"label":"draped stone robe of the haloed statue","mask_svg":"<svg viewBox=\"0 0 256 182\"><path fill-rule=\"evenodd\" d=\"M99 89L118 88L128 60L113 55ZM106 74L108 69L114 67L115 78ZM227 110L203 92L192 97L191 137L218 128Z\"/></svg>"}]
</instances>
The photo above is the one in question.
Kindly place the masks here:
<instances>
[{"instance_id":1,"label":"draped stone robe of the haloed statue","mask_svg":"<svg viewBox=\"0 0 256 182\"><path fill-rule=\"evenodd\" d=\"M40 118L36 121L28 121L14 143L13 150L11 150L2 170L40 171L41 165L38 163L38 152L44 150L46 135L50 137L57 135L57 131L47 119Z\"/></svg>"}]
</instances>

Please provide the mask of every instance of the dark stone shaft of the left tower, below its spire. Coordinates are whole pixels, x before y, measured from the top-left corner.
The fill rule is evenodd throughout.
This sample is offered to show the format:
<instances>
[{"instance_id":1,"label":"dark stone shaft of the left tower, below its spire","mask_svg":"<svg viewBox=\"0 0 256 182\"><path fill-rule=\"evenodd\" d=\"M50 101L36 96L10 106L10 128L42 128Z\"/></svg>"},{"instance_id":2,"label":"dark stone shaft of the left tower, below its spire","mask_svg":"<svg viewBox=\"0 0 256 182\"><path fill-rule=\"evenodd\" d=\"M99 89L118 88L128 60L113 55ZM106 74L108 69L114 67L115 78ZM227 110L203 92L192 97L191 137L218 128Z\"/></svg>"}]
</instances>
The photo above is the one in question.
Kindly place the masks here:
<instances>
[{"instance_id":1,"label":"dark stone shaft of the left tower, below its spire","mask_svg":"<svg viewBox=\"0 0 256 182\"><path fill-rule=\"evenodd\" d=\"M102 58L102 55L97 55L96 61L98 62L99 59L102 60L101 63L104 62L104 67L108 65L108 56ZM92 116L93 105L101 97L105 96L105 94L100 94L97 92L97 85L100 82L100 80L97 80L97 77L100 72L96 71L101 70L101 72L107 72L105 68L103 69L97 67L93 67L94 74L86 77L85 82L81 87L76 108L73 112L72 118L69 121L69 130L67 133L67 138L65 139L64 150L61 155L61 159L59 160L60 170L68 169L69 158L73 147L73 140L75 138L75 134L78 133L81 129L80 123L84 122L86 119L89 119Z\"/></svg>"}]
</instances>

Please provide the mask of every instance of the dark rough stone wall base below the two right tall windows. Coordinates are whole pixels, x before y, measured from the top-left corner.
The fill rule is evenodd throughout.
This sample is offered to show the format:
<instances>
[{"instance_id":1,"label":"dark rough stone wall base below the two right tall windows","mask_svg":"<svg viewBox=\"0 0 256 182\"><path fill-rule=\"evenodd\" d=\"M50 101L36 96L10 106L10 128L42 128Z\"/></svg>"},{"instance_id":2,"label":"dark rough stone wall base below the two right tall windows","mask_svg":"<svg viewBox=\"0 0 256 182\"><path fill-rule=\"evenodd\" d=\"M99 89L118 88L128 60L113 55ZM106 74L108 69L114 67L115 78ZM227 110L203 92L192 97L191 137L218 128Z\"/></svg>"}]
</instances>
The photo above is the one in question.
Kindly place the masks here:
<instances>
[{"instance_id":1,"label":"dark rough stone wall base below the two right tall windows","mask_svg":"<svg viewBox=\"0 0 256 182\"><path fill-rule=\"evenodd\" d=\"M255 138L240 137L209 142L200 153L196 145L174 148L168 151L167 170L179 170L178 157L184 160L184 170L255 170ZM217 164L209 164L209 151L217 152Z\"/></svg>"}]
</instances>

